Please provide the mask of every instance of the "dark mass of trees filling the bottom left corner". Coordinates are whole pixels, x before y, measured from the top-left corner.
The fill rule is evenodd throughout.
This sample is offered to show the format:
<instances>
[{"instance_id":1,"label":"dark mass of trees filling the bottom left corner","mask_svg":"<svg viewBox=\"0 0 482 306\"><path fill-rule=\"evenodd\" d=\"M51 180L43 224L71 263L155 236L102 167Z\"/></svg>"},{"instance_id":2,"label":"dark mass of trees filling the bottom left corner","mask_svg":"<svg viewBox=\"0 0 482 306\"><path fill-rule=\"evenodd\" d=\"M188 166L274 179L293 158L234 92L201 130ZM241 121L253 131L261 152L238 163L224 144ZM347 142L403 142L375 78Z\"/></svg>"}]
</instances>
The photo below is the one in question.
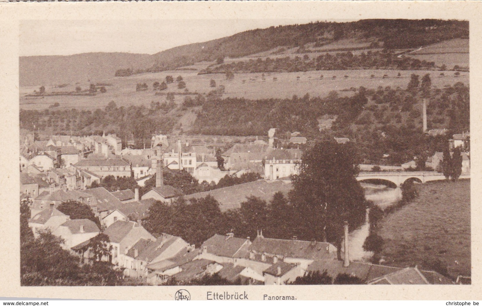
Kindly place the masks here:
<instances>
[{"instance_id":1,"label":"dark mass of trees filling the bottom left corner","mask_svg":"<svg viewBox=\"0 0 482 306\"><path fill-rule=\"evenodd\" d=\"M115 286L126 285L122 271L104 261L84 265L64 250L63 239L48 230L34 238L28 227L30 209L21 205L20 216L20 283L22 286ZM102 252L105 252L103 250Z\"/></svg>"}]
</instances>

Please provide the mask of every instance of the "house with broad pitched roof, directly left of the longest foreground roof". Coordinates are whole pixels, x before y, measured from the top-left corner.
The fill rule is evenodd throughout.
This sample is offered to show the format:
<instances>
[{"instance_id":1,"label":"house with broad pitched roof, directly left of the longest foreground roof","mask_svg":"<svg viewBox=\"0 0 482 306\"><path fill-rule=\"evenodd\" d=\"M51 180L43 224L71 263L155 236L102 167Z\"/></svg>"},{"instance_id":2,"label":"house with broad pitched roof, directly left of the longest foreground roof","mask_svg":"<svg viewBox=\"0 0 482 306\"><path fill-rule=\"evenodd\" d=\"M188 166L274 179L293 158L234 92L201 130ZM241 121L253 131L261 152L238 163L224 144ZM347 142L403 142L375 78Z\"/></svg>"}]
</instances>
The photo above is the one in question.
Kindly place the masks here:
<instances>
[{"instance_id":1,"label":"house with broad pitched roof, directly left of the longest foreground roof","mask_svg":"<svg viewBox=\"0 0 482 306\"><path fill-rule=\"evenodd\" d=\"M251 241L236 238L233 233L227 235L215 234L201 245L199 258L215 261L216 263L237 263L248 253Z\"/></svg>"}]
</instances>

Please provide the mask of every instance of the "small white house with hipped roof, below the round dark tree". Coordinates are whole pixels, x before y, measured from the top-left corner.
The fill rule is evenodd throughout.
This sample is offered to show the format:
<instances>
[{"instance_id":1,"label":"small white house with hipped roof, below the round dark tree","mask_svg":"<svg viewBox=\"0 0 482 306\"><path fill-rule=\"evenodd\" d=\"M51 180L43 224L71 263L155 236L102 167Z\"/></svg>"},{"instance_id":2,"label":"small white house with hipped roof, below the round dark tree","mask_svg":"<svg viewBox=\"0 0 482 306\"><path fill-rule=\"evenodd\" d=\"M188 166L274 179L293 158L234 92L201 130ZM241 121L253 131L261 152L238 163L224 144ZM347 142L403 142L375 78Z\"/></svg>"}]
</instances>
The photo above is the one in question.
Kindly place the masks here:
<instances>
[{"instance_id":1,"label":"small white house with hipped roof, below the round dark tree","mask_svg":"<svg viewBox=\"0 0 482 306\"><path fill-rule=\"evenodd\" d=\"M64 239L62 247L69 250L100 233L99 227L89 219L67 220L58 226L52 234Z\"/></svg>"}]
</instances>

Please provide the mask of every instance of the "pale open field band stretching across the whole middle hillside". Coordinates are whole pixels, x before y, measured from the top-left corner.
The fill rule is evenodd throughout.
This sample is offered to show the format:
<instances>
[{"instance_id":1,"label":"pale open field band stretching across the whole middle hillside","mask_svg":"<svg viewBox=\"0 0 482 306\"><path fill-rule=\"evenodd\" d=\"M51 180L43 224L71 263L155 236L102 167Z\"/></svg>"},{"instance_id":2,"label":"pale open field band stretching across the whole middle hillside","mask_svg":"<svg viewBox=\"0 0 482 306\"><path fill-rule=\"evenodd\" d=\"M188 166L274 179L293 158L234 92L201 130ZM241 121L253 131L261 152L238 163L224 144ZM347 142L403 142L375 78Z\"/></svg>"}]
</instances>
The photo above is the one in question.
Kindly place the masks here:
<instances>
[{"instance_id":1,"label":"pale open field band stretching across the whole middle hillside","mask_svg":"<svg viewBox=\"0 0 482 306\"><path fill-rule=\"evenodd\" d=\"M401 73L398 78L397 74ZM182 76L186 82L186 88L189 92L208 93L214 88L209 86L211 79L216 81L216 85L225 86L224 97L245 97L248 99L261 98L291 98L294 94L303 96L309 93L311 96L325 96L330 91L340 91L341 95L349 95L353 92L343 91L351 87L358 88L364 86L366 88L377 88L378 86L390 86L396 88L398 86L406 88L410 75L415 73L422 77L426 73L430 73L432 77L432 85L442 88L444 85L453 85L455 82L463 82L469 84L469 73L461 72L458 78L453 77L452 71L445 71L445 77L439 78L439 71L425 70L332 70L332 71L308 71L308 72L290 72L290 73L265 73L263 80L262 73L241 73L235 74L234 80L226 80L224 74L204 74L198 75L193 70L177 70L164 71L159 73L145 73L133 75L130 77L115 77L104 80L103 83L112 84L106 86L107 93L98 93L95 96L44 96L44 97L25 97L26 94L32 94L38 87L21 87L20 88L20 107L23 109L45 109L54 103L59 103L58 108L78 108L78 109L95 109L105 107L110 101L115 101L117 106L130 105L146 105L151 101L163 102L166 100L165 95L155 95L152 91L152 83L161 82L167 75L174 78ZM371 78L371 75L375 78ZM383 79L383 75L387 74L388 78ZM323 78L320 79L320 76ZM347 75L348 78L344 76ZM335 76L335 79L333 77ZM298 79L299 77L299 79ZM273 78L276 78L274 80ZM136 83L146 83L149 86L147 91L136 92ZM69 84L64 88L58 89L52 86L46 86L46 92L52 91L74 91L76 86L87 89L88 83ZM168 89L163 92L183 93L184 89L178 89L176 83L168 85ZM182 103L184 95L176 95L175 102Z\"/></svg>"}]
</instances>

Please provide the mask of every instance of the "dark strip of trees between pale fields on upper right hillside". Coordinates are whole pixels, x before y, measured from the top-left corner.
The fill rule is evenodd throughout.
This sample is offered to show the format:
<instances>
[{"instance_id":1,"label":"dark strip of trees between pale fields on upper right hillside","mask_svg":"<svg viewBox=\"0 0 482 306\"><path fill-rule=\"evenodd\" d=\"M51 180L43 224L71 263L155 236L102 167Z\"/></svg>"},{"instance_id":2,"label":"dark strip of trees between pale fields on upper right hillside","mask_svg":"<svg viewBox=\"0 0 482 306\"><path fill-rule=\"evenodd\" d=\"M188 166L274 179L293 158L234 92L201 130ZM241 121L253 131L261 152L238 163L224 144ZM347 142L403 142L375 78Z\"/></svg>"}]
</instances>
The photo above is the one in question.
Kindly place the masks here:
<instances>
[{"instance_id":1,"label":"dark strip of trees between pale fields on upper right hillside","mask_svg":"<svg viewBox=\"0 0 482 306\"><path fill-rule=\"evenodd\" d=\"M395 53L368 51L360 55L351 52L319 55L310 59L308 54L303 57L257 58L248 61L213 65L203 69L199 74L226 73L228 80L236 73L254 72L305 72L312 70L349 70L349 69L396 69L396 70L429 70L435 69L435 62L420 61L416 58L398 58ZM228 77L229 76L229 77Z\"/></svg>"}]
</instances>

